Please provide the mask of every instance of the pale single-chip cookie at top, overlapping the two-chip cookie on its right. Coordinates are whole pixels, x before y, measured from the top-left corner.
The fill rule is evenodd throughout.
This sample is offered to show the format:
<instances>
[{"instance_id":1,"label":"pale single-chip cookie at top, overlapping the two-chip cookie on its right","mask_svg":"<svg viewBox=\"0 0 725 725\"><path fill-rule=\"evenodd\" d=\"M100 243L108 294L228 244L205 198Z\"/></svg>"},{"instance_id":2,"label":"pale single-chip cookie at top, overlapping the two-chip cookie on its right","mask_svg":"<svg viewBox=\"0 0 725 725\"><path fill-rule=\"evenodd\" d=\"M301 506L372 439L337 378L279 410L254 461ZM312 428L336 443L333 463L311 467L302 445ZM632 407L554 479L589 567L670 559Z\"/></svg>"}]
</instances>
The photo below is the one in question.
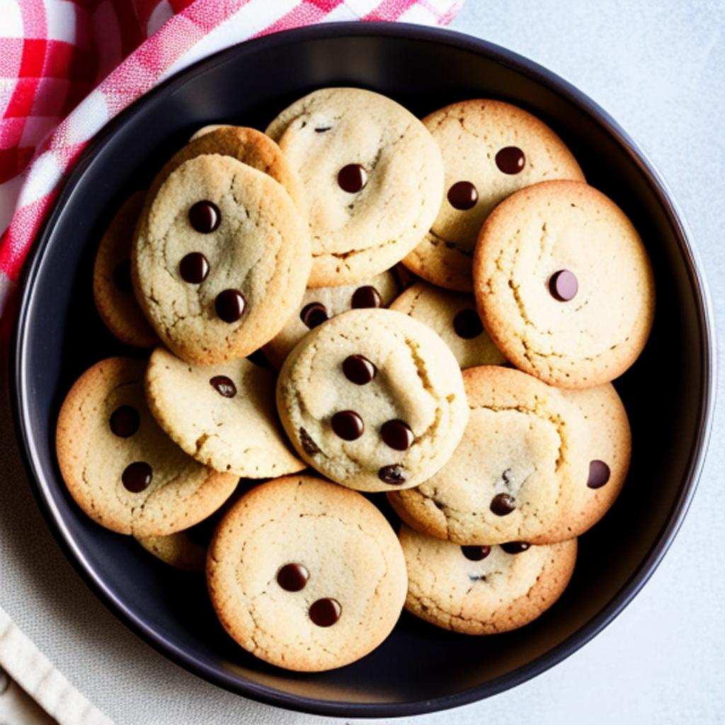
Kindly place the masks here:
<instances>
[{"instance_id":1,"label":"pale single-chip cookie at top, overlapping the two-chip cookie on its right","mask_svg":"<svg viewBox=\"0 0 725 725\"><path fill-rule=\"evenodd\" d=\"M395 101L361 88L322 88L283 110L267 133L307 194L308 286L354 284L391 268L436 218L440 151Z\"/></svg>"}]
</instances>

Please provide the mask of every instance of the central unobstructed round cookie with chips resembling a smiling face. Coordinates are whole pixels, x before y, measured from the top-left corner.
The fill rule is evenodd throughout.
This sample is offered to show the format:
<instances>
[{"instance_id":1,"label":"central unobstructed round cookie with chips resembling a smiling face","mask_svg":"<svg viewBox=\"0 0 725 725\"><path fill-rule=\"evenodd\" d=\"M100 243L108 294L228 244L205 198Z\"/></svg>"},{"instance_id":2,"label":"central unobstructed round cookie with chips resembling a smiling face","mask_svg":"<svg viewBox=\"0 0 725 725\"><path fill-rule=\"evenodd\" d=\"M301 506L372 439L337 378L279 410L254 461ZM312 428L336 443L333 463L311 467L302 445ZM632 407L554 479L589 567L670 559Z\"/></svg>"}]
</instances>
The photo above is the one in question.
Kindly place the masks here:
<instances>
[{"instance_id":1,"label":"central unobstructed round cookie with chips resembling a smiling face","mask_svg":"<svg viewBox=\"0 0 725 725\"><path fill-rule=\"evenodd\" d=\"M431 328L393 310L350 310L316 327L277 381L302 458L360 491L417 486L449 459L468 405L460 368Z\"/></svg>"}]
</instances>

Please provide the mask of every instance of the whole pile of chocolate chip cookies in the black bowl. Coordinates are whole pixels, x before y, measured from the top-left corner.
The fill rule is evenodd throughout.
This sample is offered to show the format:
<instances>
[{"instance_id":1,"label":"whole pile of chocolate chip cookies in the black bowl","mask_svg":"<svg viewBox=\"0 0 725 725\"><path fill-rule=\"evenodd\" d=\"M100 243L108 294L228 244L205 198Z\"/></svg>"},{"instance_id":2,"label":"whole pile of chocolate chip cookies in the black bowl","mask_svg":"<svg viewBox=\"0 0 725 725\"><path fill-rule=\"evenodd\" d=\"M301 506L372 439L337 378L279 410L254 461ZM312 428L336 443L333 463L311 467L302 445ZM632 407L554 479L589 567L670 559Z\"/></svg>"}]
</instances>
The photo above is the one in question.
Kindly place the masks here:
<instances>
[{"instance_id":1,"label":"whole pile of chocolate chip cookies in the black bowl","mask_svg":"<svg viewBox=\"0 0 725 725\"><path fill-rule=\"evenodd\" d=\"M207 126L112 219L94 297L153 352L67 394L70 494L205 571L231 637L277 666L351 663L404 607L468 634L529 623L624 484L611 381L650 331L650 262L502 101L421 121L324 88L265 133Z\"/></svg>"}]
</instances>

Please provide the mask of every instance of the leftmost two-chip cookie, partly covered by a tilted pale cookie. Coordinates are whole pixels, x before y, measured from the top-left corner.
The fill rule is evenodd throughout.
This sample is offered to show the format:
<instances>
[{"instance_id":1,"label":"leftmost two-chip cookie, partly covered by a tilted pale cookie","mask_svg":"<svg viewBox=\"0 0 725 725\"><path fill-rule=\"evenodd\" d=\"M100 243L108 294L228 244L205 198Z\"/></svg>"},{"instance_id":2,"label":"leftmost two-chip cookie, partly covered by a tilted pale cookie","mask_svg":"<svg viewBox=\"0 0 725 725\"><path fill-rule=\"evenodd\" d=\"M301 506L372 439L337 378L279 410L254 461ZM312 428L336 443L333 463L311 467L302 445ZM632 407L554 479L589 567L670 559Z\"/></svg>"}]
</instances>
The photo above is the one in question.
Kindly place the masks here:
<instances>
[{"instance_id":1,"label":"leftmost two-chip cookie, partly covered by a tilted pale cookie","mask_svg":"<svg viewBox=\"0 0 725 725\"><path fill-rule=\"evenodd\" d=\"M120 534L165 536L202 521L238 478L188 457L144 397L145 360L110 357L86 370L60 409L56 452L80 508Z\"/></svg>"}]
</instances>

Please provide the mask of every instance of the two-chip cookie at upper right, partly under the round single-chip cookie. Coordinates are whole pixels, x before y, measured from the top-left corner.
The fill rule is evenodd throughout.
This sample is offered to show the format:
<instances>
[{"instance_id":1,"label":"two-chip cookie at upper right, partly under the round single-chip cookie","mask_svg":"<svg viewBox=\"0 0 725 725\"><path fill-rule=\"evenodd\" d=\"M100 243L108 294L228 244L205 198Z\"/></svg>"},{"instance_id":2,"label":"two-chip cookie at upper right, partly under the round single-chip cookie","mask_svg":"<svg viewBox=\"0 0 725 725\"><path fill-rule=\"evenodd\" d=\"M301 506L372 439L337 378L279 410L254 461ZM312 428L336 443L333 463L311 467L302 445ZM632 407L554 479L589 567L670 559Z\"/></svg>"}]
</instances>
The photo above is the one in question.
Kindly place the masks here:
<instances>
[{"instance_id":1,"label":"two-chip cookie at upper right, partly under the round single-chip cookie","mask_svg":"<svg viewBox=\"0 0 725 725\"><path fill-rule=\"evenodd\" d=\"M438 286L471 291L473 248L494 207L533 183L584 175L546 124L503 101L461 101L423 123L443 155L445 195L431 230L403 263Z\"/></svg>"}]
</instances>

